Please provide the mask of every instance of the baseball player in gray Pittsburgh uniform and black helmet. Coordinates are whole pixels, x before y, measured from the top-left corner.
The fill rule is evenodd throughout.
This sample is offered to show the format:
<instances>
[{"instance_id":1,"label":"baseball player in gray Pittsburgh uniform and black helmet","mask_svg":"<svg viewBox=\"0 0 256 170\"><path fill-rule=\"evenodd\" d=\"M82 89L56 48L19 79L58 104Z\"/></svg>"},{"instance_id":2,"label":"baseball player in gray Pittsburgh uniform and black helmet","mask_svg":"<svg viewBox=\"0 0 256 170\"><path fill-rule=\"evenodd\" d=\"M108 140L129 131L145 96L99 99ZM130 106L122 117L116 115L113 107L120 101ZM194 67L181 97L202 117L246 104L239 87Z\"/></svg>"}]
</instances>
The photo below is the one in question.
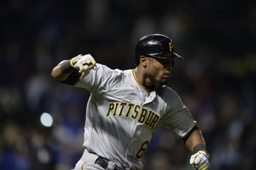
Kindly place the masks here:
<instances>
[{"instance_id":1,"label":"baseball player in gray Pittsburgh uniform and black helmet","mask_svg":"<svg viewBox=\"0 0 256 170\"><path fill-rule=\"evenodd\" d=\"M142 37L135 47L135 69L112 70L92 55L78 55L52 70L58 82L91 92L86 108L84 153L74 170L141 170L140 161L159 125L169 128L193 153L196 170L210 167L196 121L179 95L167 87L174 58L172 40Z\"/></svg>"}]
</instances>

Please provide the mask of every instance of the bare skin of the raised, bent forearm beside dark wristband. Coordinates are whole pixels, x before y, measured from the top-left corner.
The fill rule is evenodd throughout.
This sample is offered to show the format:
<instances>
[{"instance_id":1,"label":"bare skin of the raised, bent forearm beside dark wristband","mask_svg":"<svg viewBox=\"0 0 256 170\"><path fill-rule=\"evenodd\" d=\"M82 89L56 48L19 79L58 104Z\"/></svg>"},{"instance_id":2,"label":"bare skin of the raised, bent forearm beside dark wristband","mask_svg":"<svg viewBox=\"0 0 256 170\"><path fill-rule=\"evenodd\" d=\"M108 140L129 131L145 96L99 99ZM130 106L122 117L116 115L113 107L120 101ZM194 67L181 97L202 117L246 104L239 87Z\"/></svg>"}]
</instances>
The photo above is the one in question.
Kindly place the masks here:
<instances>
[{"instance_id":1,"label":"bare skin of the raised, bent forearm beside dark wristband","mask_svg":"<svg viewBox=\"0 0 256 170\"><path fill-rule=\"evenodd\" d=\"M62 62L60 62L56 67L54 67L52 69L52 72L51 72L51 76L52 78L56 79L56 80L59 80L59 81L63 81L63 80L66 80L68 78L68 76L70 75L70 73L72 72L71 69L73 69L71 66L70 67L67 67L66 69L63 69L63 63L65 64L67 60L64 60ZM66 62L67 63L67 62ZM67 71L66 70L70 70L69 73L66 73ZM66 71L66 72L65 72ZM64 72L64 73L63 73Z\"/></svg>"}]
</instances>

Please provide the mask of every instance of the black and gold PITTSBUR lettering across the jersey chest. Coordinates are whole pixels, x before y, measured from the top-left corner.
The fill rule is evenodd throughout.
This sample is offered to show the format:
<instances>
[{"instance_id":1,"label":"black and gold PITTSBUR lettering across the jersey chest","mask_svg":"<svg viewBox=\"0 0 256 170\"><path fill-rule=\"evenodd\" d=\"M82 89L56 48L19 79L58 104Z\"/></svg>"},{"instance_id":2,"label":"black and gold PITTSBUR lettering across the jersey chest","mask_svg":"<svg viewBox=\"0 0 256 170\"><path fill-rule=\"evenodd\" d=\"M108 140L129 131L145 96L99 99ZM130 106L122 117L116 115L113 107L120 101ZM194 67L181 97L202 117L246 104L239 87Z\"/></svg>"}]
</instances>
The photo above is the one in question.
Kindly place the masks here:
<instances>
[{"instance_id":1,"label":"black and gold PITTSBUR lettering across the jersey chest","mask_svg":"<svg viewBox=\"0 0 256 170\"><path fill-rule=\"evenodd\" d=\"M140 105L134 103L109 103L106 116L124 116L137 119L140 123L145 123L151 129L154 129L159 120L159 116L152 110L141 108Z\"/></svg>"}]
</instances>

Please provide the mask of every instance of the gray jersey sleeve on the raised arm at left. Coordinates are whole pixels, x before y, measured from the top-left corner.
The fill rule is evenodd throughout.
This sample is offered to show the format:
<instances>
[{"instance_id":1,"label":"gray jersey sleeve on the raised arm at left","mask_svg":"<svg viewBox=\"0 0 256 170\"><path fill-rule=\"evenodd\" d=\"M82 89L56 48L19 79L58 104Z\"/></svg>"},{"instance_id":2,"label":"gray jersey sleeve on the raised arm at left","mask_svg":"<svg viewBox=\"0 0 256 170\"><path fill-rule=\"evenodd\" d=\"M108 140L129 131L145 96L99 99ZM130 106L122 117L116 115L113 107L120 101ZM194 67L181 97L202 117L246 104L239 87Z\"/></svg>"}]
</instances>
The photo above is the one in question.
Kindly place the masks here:
<instances>
[{"instance_id":1,"label":"gray jersey sleeve on the raised arm at left","mask_svg":"<svg viewBox=\"0 0 256 170\"><path fill-rule=\"evenodd\" d=\"M115 70L97 63L97 69L84 73L75 86L85 88L92 93L104 94L111 87L115 77Z\"/></svg>"}]
</instances>

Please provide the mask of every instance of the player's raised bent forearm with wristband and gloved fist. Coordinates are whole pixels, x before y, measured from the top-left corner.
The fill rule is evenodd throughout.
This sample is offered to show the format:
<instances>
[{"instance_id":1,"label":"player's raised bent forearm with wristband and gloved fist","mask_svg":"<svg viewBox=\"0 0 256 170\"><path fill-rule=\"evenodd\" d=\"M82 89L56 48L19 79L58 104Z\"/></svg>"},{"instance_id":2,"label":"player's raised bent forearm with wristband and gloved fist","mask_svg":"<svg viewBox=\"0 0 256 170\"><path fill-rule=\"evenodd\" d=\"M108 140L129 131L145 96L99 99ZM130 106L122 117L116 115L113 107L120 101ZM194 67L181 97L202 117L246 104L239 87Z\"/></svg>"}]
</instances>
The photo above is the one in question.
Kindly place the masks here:
<instances>
[{"instance_id":1,"label":"player's raised bent forearm with wristband and gloved fist","mask_svg":"<svg viewBox=\"0 0 256 170\"><path fill-rule=\"evenodd\" d=\"M64 60L60 62L56 67L52 69L52 78L63 81L66 80L74 69L78 69L79 73L86 72L88 70L96 70L96 62L92 55L77 55L70 60Z\"/></svg>"}]
</instances>

